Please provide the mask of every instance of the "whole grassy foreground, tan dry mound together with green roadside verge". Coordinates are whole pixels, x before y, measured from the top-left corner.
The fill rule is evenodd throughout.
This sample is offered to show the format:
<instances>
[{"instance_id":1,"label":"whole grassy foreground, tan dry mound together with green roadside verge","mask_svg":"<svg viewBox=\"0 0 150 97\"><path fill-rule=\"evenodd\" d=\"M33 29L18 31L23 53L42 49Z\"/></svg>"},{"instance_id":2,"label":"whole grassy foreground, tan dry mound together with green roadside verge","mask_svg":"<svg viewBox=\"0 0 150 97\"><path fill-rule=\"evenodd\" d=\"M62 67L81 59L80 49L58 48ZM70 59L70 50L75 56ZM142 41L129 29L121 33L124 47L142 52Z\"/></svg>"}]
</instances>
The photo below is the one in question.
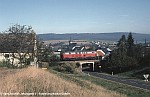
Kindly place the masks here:
<instances>
[{"instance_id":1,"label":"whole grassy foreground, tan dry mound together with green roadside verge","mask_svg":"<svg viewBox=\"0 0 150 97\"><path fill-rule=\"evenodd\" d=\"M89 76L79 73L73 68L67 71L67 68L71 67L68 63L59 68L51 67L48 71L36 68L3 68L0 71L0 91L20 93L67 92L71 93L69 97L118 97L123 95L127 95L127 97L150 97L150 91ZM2 72L3 70L4 72Z\"/></svg>"}]
</instances>

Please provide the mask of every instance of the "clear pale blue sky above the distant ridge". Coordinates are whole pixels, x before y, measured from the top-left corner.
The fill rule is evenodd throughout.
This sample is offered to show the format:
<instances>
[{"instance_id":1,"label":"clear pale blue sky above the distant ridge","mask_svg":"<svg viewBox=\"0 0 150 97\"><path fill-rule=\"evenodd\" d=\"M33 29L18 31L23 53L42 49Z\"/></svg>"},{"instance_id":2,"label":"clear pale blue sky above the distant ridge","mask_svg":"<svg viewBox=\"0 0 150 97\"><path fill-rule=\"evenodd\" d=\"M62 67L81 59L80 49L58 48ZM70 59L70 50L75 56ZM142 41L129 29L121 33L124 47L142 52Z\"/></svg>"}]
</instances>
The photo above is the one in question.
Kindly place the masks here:
<instances>
[{"instance_id":1,"label":"clear pale blue sky above the distant ridge","mask_svg":"<svg viewBox=\"0 0 150 97\"><path fill-rule=\"evenodd\" d=\"M150 0L0 0L0 32L150 34Z\"/></svg>"}]
</instances>

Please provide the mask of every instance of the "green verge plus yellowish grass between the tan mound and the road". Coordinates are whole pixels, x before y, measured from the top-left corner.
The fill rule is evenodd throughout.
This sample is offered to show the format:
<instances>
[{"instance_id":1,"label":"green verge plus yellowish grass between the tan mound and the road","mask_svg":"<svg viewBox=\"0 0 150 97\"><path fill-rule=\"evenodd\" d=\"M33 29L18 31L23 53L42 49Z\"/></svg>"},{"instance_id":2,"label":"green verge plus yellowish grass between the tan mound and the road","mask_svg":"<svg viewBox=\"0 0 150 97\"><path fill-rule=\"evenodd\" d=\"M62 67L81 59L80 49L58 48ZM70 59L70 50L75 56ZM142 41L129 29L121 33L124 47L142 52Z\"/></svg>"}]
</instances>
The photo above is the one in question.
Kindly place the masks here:
<instances>
[{"instance_id":1,"label":"green verge plus yellowish grass between the tan mound and the road","mask_svg":"<svg viewBox=\"0 0 150 97\"><path fill-rule=\"evenodd\" d=\"M119 84L116 82L107 81L104 79L96 78L93 76L88 76L85 74L62 74L57 71L51 72L57 74L58 76L61 76L65 80L71 80L73 82L76 82L77 85L80 85L82 87L90 88L89 82L92 84L95 84L97 86L102 86L107 90L115 91L117 93L127 95L127 97L150 97L150 91L141 90L135 87L127 86L124 84ZM86 83L88 82L88 83Z\"/></svg>"}]
</instances>

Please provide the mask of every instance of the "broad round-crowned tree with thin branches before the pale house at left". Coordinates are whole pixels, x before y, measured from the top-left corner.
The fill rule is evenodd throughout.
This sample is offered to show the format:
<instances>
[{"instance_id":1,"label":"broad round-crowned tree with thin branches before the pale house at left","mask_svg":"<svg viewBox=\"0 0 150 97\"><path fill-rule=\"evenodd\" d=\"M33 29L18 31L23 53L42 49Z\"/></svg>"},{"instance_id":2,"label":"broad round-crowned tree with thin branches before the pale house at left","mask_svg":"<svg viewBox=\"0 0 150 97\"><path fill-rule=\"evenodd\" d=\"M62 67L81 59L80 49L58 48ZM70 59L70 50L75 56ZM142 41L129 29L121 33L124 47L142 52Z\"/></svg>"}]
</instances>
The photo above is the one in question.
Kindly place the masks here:
<instances>
[{"instance_id":1,"label":"broad round-crowned tree with thin branches before the pale house at left","mask_svg":"<svg viewBox=\"0 0 150 97\"><path fill-rule=\"evenodd\" d=\"M12 64L14 58L17 58L22 65L26 61L26 56L33 54L35 33L31 26L13 25L8 31L4 31L2 36L5 36L1 38L2 51L12 54Z\"/></svg>"}]
</instances>

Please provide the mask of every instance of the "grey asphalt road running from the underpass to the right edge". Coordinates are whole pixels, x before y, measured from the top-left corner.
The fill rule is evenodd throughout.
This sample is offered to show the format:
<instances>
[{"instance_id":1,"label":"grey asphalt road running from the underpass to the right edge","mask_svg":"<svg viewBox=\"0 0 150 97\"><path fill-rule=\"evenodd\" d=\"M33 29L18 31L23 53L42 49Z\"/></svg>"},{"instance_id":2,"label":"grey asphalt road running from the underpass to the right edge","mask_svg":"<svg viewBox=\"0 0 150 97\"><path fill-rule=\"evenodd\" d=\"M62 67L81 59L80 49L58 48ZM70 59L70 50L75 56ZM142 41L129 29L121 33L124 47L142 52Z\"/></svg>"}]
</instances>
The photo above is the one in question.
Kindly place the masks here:
<instances>
[{"instance_id":1,"label":"grey asphalt road running from the underpass to the right edge","mask_svg":"<svg viewBox=\"0 0 150 97\"><path fill-rule=\"evenodd\" d=\"M105 80L118 82L118 83L126 84L126 85L129 85L132 87L136 87L139 89L150 91L150 82L145 82L145 81L136 80L136 79L128 79L128 78L124 78L124 77L108 75L108 74L98 73L98 72L84 71L84 73L95 76L95 77L103 78Z\"/></svg>"}]
</instances>

